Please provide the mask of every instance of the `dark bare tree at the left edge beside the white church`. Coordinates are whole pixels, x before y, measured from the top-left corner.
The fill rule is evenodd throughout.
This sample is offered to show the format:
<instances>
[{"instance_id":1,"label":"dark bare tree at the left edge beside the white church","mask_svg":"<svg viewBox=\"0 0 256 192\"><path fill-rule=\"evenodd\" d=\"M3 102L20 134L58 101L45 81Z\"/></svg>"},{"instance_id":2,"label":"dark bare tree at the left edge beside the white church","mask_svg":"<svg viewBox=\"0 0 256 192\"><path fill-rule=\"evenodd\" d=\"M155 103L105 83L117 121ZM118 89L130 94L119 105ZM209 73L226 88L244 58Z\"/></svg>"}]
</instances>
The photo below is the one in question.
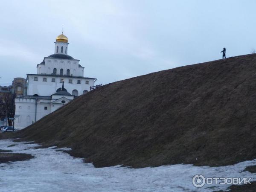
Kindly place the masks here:
<instances>
[{"instance_id":1,"label":"dark bare tree at the left edge beside the white church","mask_svg":"<svg viewBox=\"0 0 256 192\"><path fill-rule=\"evenodd\" d=\"M1 116L5 116L8 119L8 125L12 125L15 114L15 94L12 93L1 93L0 95L0 111Z\"/></svg>"}]
</instances>

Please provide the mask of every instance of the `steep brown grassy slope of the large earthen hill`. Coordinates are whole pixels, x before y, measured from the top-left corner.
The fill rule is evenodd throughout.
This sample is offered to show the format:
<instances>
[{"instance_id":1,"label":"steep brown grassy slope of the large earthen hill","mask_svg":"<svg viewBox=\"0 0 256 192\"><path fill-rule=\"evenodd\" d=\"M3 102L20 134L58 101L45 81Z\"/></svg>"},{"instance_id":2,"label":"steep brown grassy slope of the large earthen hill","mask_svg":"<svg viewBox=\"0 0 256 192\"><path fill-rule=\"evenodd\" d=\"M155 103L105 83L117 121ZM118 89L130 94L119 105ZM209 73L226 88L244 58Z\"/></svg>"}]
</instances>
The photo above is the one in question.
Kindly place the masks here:
<instances>
[{"instance_id":1,"label":"steep brown grassy slope of the large earthen hill","mask_svg":"<svg viewBox=\"0 0 256 192\"><path fill-rule=\"evenodd\" d=\"M98 167L255 159L256 54L107 84L18 137L72 147Z\"/></svg>"}]
</instances>

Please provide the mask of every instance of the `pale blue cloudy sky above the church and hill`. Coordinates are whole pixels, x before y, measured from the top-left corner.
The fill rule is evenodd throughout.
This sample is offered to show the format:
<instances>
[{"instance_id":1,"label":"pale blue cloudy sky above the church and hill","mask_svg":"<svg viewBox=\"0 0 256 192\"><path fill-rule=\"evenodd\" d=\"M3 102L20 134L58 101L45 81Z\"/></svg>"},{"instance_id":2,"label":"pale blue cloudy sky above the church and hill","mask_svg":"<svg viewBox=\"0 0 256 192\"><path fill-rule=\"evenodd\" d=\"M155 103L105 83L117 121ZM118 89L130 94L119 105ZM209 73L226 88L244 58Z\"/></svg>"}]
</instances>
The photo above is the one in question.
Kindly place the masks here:
<instances>
[{"instance_id":1,"label":"pale blue cloudy sky above the church and hill","mask_svg":"<svg viewBox=\"0 0 256 192\"><path fill-rule=\"evenodd\" d=\"M2 0L0 85L26 79L54 53L68 55L97 84L256 49L255 0Z\"/></svg>"}]
</instances>

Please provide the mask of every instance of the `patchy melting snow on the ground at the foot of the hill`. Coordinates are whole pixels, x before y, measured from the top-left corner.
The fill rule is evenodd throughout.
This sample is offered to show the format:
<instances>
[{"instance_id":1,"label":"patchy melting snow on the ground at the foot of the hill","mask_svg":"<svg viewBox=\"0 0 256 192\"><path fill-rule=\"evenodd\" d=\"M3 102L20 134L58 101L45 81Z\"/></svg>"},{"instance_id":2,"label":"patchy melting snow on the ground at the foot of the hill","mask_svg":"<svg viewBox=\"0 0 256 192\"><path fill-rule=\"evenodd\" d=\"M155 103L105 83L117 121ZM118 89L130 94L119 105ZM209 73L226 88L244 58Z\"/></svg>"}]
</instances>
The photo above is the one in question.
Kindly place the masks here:
<instances>
[{"instance_id":1,"label":"patchy melting snow on the ground at the foot of the hill","mask_svg":"<svg viewBox=\"0 0 256 192\"><path fill-rule=\"evenodd\" d=\"M9 145L16 144L12 147ZM256 165L256 160L233 166L209 167L193 165L170 165L131 169L113 166L95 168L92 163L83 163L54 147L34 148L38 144L0 140L0 149L12 153L27 153L32 160L0 163L0 192L212 192L227 189L229 185L205 185L196 188L192 177L252 177L255 174L242 172L246 166ZM68 148L61 148L69 150Z\"/></svg>"}]
</instances>

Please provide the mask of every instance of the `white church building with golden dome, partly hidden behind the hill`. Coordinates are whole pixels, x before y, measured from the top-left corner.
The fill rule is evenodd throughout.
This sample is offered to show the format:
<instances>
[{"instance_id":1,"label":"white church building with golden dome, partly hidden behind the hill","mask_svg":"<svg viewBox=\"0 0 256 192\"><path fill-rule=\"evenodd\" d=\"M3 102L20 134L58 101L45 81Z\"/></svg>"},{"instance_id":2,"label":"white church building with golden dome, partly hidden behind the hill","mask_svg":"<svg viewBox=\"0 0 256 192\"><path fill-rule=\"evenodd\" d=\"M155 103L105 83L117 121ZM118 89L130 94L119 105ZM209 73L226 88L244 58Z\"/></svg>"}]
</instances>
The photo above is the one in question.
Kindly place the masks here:
<instances>
[{"instance_id":1,"label":"white church building with golden dome, partly hidden behind the hill","mask_svg":"<svg viewBox=\"0 0 256 192\"><path fill-rule=\"evenodd\" d=\"M80 60L67 55L68 45L68 38L58 35L54 54L37 65L37 74L27 74L27 94L15 98L15 128L31 125L94 86L96 79L84 77Z\"/></svg>"}]
</instances>

